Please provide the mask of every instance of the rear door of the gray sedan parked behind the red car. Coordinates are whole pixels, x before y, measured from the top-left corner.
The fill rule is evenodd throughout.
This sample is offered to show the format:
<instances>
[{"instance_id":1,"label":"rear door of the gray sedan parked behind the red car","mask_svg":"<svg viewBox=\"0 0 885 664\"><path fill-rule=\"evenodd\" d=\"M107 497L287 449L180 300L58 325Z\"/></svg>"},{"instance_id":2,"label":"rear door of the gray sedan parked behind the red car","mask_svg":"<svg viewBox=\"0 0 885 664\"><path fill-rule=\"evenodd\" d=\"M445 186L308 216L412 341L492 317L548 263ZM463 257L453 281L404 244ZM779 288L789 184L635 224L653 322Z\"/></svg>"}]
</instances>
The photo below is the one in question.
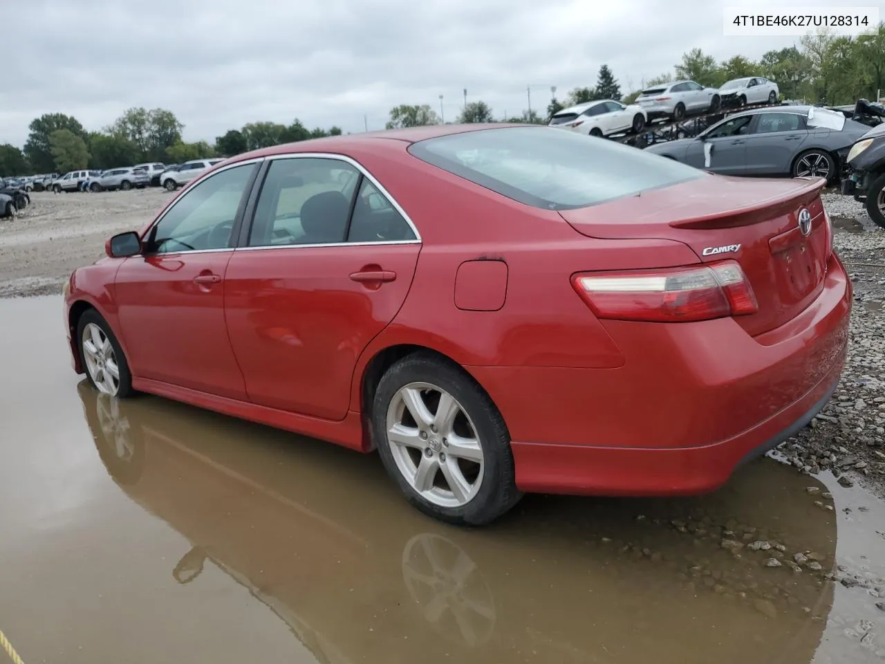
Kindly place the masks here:
<instances>
[{"instance_id":1,"label":"rear door of the gray sedan parked behind the red car","mask_svg":"<svg viewBox=\"0 0 885 664\"><path fill-rule=\"evenodd\" d=\"M799 113L760 112L746 136L748 175L785 175L808 139Z\"/></svg>"}]
</instances>

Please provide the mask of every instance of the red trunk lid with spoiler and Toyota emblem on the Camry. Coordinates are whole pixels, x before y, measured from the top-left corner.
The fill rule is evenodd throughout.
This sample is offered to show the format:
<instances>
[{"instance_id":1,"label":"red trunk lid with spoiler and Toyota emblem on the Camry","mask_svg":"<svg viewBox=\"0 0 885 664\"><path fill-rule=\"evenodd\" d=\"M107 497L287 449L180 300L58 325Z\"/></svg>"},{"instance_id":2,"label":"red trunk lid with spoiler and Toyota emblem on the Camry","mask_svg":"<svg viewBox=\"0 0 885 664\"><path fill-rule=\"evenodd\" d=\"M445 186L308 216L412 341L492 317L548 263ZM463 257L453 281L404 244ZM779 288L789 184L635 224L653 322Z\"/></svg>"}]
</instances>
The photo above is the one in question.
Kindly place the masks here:
<instances>
[{"instance_id":1,"label":"red trunk lid with spoiler and Toyota emblem on the Camry","mask_svg":"<svg viewBox=\"0 0 885 664\"><path fill-rule=\"evenodd\" d=\"M581 235L677 240L704 263L736 260L758 313L735 320L757 336L795 318L823 289L830 251L825 184L710 175L560 214ZM803 208L812 218L808 235L799 227Z\"/></svg>"}]
</instances>

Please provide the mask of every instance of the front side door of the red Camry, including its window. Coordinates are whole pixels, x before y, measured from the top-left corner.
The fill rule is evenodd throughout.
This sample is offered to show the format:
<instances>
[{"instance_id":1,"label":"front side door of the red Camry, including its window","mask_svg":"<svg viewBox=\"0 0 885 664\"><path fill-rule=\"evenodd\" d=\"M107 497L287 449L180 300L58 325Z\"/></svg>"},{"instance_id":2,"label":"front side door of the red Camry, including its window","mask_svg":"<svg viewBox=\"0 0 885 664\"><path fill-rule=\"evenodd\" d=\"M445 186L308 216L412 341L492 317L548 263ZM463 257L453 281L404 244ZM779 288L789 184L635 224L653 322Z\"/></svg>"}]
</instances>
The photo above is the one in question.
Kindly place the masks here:
<instances>
[{"instance_id":1,"label":"front side door of the red Camry, including its window","mask_svg":"<svg viewBox=\"0 0 885 664\"><path fill-rule=\"evenodd\" d=\"M257 168L252 160L197 182L144 235L142 255L119 267L114 299L133 374L246 398L227 337L224 277Z\"/></svg>"}]
</instances>

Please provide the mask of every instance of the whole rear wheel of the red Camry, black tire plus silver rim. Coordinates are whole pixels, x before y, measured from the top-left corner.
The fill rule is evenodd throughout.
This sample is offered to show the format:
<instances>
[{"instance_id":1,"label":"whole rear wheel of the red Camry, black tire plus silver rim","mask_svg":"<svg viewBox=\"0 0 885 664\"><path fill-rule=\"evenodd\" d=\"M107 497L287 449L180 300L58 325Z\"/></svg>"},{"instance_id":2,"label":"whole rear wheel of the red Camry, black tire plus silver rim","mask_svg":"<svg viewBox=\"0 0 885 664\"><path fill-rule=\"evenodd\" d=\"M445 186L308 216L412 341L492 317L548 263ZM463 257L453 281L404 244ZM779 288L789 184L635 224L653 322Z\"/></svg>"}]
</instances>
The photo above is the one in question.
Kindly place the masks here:
<instances>
[{"instance_id":1,"label":"whole rear wheel of the red Camry, black tire plus silver rim","mask_svg":"<svg viewBox=\"0 0 885 664\"><path fill-rule=\"evenodd\" d=\"M406 499L439 521L484 525L522 496L504 418L445 359L419 352L390 367L375 391L372 431Z\"/></svg>"}]
</instances>

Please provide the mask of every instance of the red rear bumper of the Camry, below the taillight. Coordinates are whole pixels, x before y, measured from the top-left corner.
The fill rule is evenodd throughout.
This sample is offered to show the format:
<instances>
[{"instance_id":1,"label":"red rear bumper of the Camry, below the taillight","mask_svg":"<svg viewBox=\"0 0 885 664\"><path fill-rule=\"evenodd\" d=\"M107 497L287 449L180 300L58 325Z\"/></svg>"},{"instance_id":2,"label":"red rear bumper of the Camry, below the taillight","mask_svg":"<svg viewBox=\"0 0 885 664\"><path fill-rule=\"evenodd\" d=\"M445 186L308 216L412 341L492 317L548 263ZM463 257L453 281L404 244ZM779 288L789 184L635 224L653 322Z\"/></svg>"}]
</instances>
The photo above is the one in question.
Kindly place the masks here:
<instances>
[{"instance_id":1,"label":"red rear bumper of the Camry, below the taillight","mask_svg":"<svg viewBox=\"0 0 885 664\"><path fill-rule=\"evenodd\" d=\"M468 368L507 422L521 490L701 493L827 403L844 367L850 300L834 257L812 305L763 336L730 319L657 325L623 344L619 368Z\"/></svg>"}]
</instances>

